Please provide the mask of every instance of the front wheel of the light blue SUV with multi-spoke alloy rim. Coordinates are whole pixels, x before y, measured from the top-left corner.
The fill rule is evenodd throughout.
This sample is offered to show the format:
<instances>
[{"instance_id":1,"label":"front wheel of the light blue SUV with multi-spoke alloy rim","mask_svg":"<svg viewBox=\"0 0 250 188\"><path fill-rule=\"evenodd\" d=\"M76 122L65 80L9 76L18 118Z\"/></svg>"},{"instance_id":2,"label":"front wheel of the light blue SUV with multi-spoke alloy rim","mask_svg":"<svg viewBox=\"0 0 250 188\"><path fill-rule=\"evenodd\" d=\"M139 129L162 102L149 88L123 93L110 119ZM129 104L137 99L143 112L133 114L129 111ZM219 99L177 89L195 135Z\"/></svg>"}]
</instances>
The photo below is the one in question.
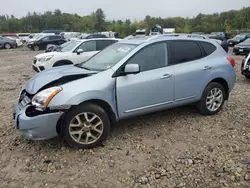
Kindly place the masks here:
<instances>
[{"instance_id":1,"label":"front wheel of the light blue SUV with multi-spoke alloy rim","mask_svg":"<svg viewBox=\"0 0 250 188\"><path fill-rule=\"evenodd\" d=\"M88 114L88 118L85 118L86 114ZM94 115L96 118L93 119ZM81 118L81 123L79 118ZM98 126L94 128L93 124ZM99 129L99 132L95 131L97 129ZM83 103L72 108L62 121L61 137L66 144L74 148L89 149L97 147L107 139L109 133L110 120L107 113L100 106L92 103ZM95 136L95 138L92 136Z\"/></svg>"}]
</instances>

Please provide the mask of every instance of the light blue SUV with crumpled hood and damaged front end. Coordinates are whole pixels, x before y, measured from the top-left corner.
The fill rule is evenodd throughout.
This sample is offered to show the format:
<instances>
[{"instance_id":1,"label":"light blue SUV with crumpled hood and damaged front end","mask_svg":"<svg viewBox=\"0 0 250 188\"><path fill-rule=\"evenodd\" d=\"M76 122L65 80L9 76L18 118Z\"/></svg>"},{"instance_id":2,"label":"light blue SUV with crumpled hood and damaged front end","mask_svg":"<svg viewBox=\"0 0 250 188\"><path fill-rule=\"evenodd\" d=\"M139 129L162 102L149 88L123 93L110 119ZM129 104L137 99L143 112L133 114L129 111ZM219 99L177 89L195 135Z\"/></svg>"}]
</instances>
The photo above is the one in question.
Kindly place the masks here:
<instances>
[{"instance_id":1,"label":"light blue SUV with crumpled hood and damaged front end","mask_svg":"<svg viewBox=\"0 0 250 188\"><path fill-rule=\"evenodd\" d=\"M16 128L32 140L59 135L70 146L92 148L124 118L191 103L214 115L235 85L234 66L213 40L121 40L86 62L36 74L14 108Z\"/></svg>"}]
</instances>

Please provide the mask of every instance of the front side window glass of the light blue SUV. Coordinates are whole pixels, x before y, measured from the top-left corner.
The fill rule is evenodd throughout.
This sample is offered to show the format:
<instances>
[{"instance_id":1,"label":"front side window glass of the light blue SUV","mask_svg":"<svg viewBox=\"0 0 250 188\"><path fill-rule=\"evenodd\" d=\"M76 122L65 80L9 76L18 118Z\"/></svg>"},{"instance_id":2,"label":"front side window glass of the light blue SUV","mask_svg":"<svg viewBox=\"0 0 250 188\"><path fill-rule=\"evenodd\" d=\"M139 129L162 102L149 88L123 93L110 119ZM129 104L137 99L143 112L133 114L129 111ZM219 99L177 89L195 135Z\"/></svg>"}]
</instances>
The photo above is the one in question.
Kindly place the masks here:
<instances>
[{"instance_id":1,"label":"front side window glass of the light blue SUV","mask_svg":"<svg viewBox=\"0 0 250 188\"><path fill-rule=\"evenodd\" d=\"M156 43L140 50L127 64L138 64L140 71L147 71L168 65L167 43Z\"/></svg>"}]
</instances>

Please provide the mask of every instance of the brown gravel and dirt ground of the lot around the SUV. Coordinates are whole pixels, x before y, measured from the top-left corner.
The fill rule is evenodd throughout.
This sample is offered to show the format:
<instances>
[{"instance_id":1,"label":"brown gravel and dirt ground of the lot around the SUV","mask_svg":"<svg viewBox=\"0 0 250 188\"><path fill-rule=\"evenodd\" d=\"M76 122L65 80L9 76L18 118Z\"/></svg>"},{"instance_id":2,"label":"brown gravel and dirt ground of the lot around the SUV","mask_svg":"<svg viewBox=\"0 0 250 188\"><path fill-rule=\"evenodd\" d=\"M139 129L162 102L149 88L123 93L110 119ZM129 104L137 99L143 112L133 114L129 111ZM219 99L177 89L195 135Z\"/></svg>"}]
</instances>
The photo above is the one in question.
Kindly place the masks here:
<instances>
[{"instance_id":1,"label":"brown gravel and dirt ground of the lot around the SUV","mask_svg":"<svg viewBox=\"0 0 250 188\"><path fill-rule=\"evenodd\" d=\"M59 139L28 141L14 128L12 105L35 74L35 54L0 50L0 187L250 187L250 81L241 56L218 115L183 107L142 116L120 122L103 147L75 150Z\"/></svg>"}]
</instances>

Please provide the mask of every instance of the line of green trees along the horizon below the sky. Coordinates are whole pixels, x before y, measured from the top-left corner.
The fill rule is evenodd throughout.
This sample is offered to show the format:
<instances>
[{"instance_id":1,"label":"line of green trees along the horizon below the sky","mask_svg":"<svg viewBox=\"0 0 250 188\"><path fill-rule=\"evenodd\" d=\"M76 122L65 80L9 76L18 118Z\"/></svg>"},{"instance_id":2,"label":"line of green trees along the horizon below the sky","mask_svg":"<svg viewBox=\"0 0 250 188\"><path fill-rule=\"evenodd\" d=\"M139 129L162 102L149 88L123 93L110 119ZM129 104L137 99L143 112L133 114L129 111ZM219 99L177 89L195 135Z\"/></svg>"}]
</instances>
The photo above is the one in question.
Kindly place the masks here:
<instances>
[{"instance_id":1,"label":"line of green trees along the horizon below the sky","mask_svg":"<svg viewBox=\"0 0 250 188\"><path fill-rule=\"evenodd\" d=\"M107 20L104 11L100 8L87 16L63 13L59 9L42 14L28 12L22 18L0 15L0 33L38 33L46 29L63 29L84 33L115 31L120 37L125 37L140 28L147 29L149 33L150 28L156 24L162 28L175 28L179 33L224 31L233 34L236 30L250 29L250 6L222 13L200 13L193 18L161 18L147 15L141 21Z\"/></svg>"}]
</instances>

